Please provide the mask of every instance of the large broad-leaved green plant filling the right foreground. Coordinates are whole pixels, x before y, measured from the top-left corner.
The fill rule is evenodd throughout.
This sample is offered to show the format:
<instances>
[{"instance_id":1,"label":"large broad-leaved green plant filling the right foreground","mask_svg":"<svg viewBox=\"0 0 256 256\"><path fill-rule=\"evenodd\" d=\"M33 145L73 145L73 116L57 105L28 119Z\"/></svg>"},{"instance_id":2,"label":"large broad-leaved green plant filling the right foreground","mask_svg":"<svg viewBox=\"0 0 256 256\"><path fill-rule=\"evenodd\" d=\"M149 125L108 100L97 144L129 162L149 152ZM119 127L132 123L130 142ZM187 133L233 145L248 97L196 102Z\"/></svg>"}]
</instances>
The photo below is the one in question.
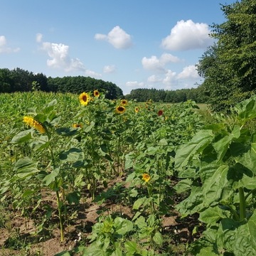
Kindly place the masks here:
<instances>
[{"instance_id":1,"label":"large broad-leaved green plant filling the right foreground","mask_svg":"<svg viewBox=\"0 0 256 256\"><path fill-rule=\"evenodd\" d=\"M176 209L183 217L199 213L206 225L193 255L256 252L255 110L256 97L241 102L176 152L176 190L189 195Z\"/></svg>"}]
</instances>

